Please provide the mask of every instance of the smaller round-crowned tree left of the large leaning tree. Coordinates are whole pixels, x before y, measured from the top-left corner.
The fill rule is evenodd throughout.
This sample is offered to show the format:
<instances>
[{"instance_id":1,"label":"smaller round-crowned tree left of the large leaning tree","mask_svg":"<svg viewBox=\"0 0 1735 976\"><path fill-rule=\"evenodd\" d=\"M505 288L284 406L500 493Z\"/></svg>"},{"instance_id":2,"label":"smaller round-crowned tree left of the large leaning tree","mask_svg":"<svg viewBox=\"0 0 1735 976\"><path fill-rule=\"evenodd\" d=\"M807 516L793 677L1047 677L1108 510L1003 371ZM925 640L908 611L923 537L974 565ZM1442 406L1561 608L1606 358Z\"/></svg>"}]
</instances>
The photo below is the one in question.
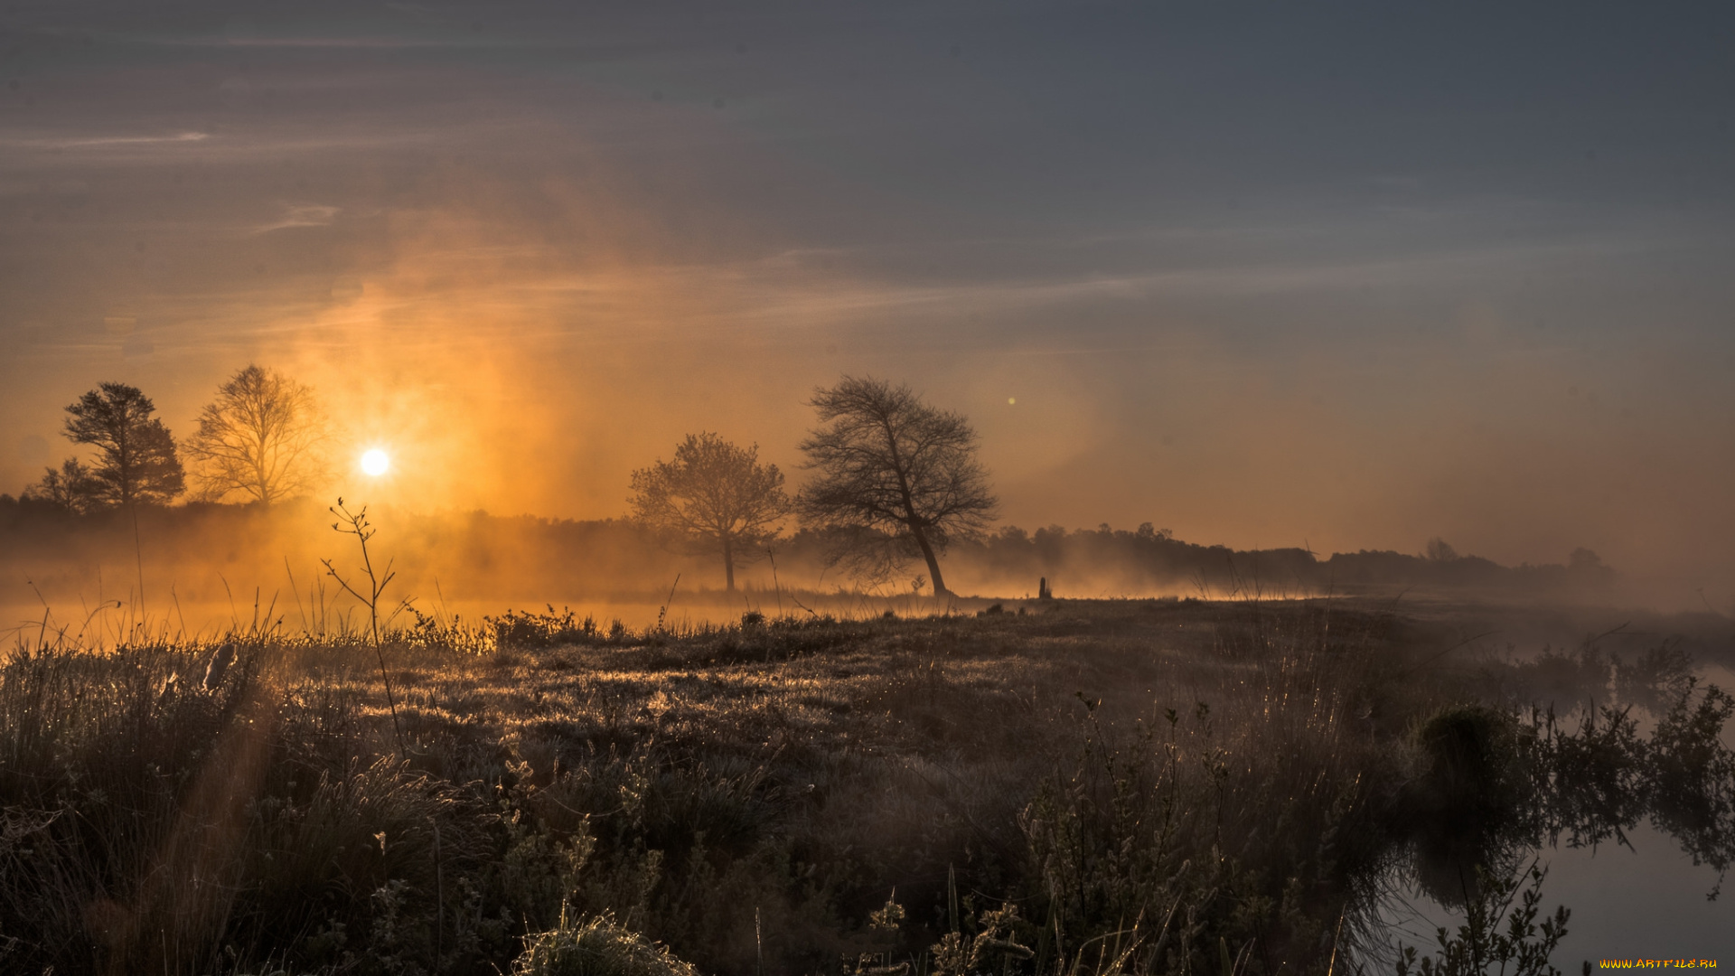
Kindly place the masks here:
<instances>
[{"instance_id":1,"label":"smaller round-crowned tree left of the large leaning tree","mask_svg":"<svg viewBox=\"0 0 1735 976\"><path fill-rule=\"evenodd\" d=\"M789 514L782 472L717 434L687 434L673 460L633 472L633 518L704 552L720 552L729 592L736 563L758 556Z\"/></svg>"}]
</instances>

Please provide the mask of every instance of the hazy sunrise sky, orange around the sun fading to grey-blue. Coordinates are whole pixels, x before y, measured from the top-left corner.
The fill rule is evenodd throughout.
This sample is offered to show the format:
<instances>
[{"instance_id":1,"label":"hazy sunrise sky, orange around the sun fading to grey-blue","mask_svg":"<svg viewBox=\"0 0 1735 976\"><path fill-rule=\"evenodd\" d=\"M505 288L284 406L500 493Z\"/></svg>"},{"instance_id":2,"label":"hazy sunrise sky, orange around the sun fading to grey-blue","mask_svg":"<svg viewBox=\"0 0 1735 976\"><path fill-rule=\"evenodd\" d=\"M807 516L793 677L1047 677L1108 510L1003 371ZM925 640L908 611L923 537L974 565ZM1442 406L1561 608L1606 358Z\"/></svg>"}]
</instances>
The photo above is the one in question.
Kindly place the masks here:
<instances>
[{"instance_id":1,"label":"hazy sunrise sky, orange around the sun fading to grey-blue","mask_svg":"<svg viewBox=\"0 0 1735 976\"><path fill-rule=\"evenodd\" d=\"M965 413L1003 521L1735 599L1735 7L0 7L0 491L248 363L380 502ZM350 483L354 481L354 483ZM1721 587L1721 589L1719 589ZM1726 590L1726 592L1723 592Z\"/></svg>"}]
</instances>

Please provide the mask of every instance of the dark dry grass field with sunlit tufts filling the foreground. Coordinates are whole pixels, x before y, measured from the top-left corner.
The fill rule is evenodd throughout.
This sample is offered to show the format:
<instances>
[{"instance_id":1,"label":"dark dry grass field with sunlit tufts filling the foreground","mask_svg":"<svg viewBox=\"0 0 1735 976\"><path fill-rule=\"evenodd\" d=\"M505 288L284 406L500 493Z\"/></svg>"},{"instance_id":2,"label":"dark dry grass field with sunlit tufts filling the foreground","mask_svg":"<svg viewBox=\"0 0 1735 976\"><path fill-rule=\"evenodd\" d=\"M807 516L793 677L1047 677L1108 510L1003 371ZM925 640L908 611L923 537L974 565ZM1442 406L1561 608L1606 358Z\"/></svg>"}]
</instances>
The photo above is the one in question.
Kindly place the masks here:
<instances>
[{"instance_id":1,"label":"dark dry grass field with sunlit tufts filling the foreground","mask_svg":"<svg viewBox=\"0 0 1735 976\"><path fill-rule=\"evenodd\" d=\"M1371 905L1423 825L1482 853L1619 827L1666 747L1726 865L1728 700L1678 655L1456 643L1326 601L24 641L0 670L0 967L1341 971L1376 959ZM1676 721L1525 717L1562 669L1673 695ZM1601 780L1537 801L1567 752Z\"/></svg>"}]
</instances>

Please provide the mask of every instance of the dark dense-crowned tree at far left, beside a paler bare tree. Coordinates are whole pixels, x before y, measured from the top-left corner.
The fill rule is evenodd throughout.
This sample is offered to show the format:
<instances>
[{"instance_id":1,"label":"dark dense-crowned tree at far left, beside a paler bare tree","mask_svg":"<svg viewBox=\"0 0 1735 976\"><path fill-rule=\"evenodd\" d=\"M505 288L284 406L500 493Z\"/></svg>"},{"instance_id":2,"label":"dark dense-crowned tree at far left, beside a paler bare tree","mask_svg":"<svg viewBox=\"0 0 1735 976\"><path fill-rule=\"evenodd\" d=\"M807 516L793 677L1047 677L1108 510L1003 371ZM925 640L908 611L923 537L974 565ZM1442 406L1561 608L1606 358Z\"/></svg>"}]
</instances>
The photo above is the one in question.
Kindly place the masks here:
<instances>
[{"instance_id":1,"label":"dark dense-crowned tree at far left, beside a paler bare tree","mask_svg":"<svg viewBox=\"0 0 1735 976\"><path fill-rule=\"evenodd\" d=\"M167 504L186 490L175 438L139 387L102 384L66 408L66 439L97 448L90 467L95 504Z\"/></svg>"}]
</instances>

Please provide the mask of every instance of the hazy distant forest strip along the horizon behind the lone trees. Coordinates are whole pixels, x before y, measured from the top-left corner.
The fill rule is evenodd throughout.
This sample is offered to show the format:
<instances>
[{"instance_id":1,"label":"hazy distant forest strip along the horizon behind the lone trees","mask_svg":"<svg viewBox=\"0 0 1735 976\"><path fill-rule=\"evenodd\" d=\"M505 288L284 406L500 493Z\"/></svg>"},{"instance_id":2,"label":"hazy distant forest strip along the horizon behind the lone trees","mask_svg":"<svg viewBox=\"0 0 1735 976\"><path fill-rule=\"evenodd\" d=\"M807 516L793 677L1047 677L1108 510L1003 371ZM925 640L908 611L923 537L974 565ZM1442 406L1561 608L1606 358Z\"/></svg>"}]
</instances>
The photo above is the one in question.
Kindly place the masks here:
<instances>
[{"instance_id":1,"label":"hazy distant forest strip along the horizon behind the lone trees","mask_svg":"<svg viewBox=\"0 0 1735 976\"><path fill-rule=\"evenodd\" d=\"M633 599L668 592L722 590L722 566L694 556L626 519L547 519L488 512L409 514L376 509L378 551L396 559L399 594L465 601ZM135 551L132 516L123 509L71 512L0 495L0 564L52 589L59 601L125 597L142 561L146 580L182 601L241 599L309 589L321 557L347 557L324 505L302 500L260 505L193 502L141 507ZM796 531L744 552L743 587L807 592L928 596L921 566L904 575L861 580L826 564L822 533ZM1306 549L1242 551L1173 538L1142 524L1116 530L1062 526L1025 531L1003 526L979 540L954 542L946 573L961 596L1036 597L1046 580L1057 597L1201 596L1301 597L1385 589L1450 589L1522 596L1607 596L1617 573L1589 551L1562 564L1501 566L1457 556L1438 540L1430 554ZM227 587L227 589L226 589ZM9 599L23 594L9 594ZM298 599L307 594L300 592ZM243 601L245 603L245 601Z\"/></svg>"}]
</instances>

